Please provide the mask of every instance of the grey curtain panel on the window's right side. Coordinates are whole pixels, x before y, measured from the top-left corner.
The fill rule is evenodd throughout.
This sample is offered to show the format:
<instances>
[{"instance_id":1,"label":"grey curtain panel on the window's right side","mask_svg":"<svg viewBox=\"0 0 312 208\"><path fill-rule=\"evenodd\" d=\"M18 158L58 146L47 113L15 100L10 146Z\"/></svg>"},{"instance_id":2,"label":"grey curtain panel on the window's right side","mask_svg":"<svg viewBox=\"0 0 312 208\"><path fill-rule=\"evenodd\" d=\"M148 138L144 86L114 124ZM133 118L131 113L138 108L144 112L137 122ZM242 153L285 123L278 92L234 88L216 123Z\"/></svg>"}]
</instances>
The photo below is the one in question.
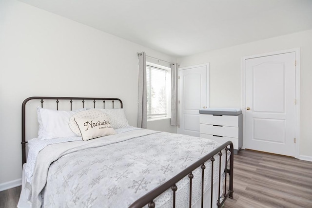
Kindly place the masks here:
<instances>
[{"instance_id":1,"label":"grey curtain panel on the window's right side","mask_svg":"<svg viewBox=\"0 0 312 208\"><path fill-rule=\"evenodd\" d=\"M179 125L178 118L178 82L177 82L177 63L170 64L171 66L171 121L170 124L173 126Z\"/></svg>"}]
</instances>

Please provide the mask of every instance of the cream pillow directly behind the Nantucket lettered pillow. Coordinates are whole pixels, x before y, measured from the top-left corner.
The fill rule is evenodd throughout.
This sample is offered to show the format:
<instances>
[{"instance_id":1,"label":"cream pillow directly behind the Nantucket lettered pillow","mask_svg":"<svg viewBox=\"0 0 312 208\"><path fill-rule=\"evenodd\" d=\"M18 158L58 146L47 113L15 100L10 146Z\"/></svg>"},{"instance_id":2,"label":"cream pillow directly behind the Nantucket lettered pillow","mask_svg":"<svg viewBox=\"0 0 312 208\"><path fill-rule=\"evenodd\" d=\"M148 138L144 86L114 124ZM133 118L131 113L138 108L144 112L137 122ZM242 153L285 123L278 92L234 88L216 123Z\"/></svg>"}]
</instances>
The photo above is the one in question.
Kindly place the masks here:
<instances>
[{"instance_id":1,"label":"cream pillow directly behind the Nantucket lettered pillow","mask_svg":"<svg viewBox=\"0 0 312 208\"><path fill-rule=\"evenodd\" d=\"M69 127L74 133L76 133L78 136L81 136L78 125L76 121L74 120L75 118L99 118L99 117L104 117L104 116L106 116L106 114L98 109L90 109L86 111L81 111L81 112L73 114L69 118Z\"/></svg>"}]
</instances>

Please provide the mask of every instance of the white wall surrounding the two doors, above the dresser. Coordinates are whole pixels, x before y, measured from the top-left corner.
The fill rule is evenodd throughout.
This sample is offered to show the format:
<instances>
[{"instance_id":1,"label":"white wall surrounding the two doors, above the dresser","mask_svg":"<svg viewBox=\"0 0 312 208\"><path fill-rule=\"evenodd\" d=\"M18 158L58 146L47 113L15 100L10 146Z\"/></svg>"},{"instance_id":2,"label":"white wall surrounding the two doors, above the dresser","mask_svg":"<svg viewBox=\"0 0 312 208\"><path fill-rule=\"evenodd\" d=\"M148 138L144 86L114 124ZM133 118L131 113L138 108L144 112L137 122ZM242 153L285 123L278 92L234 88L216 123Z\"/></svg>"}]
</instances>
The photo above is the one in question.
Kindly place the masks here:
<instances>
[{"instance_id":1,"label":"white wall surrounding the two doors, above the dresser","mask_svg":"<svg viewBox=\"0 0 312 208\"><path fill-rule=\"evenodd\" d=\"M180 67L210 63L210 107L241 108L242 57L300 47L300 156L312 160L312 30L178 58Z\"/></svg>"}]
</instances>

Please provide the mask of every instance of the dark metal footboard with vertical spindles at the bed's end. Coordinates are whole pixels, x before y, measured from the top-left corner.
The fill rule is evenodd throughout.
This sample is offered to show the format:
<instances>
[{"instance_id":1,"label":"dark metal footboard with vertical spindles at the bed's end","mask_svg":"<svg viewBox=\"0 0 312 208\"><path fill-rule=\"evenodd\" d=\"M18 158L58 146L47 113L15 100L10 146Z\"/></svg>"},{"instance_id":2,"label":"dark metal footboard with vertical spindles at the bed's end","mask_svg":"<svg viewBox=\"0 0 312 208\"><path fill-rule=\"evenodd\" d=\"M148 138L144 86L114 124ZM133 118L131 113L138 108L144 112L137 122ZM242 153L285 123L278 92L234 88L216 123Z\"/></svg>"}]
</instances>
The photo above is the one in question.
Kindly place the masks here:
<instances>
[{"instance_id":1,"label":"dark metal footboard with vertical spindles at the bed's end","mask_svg":"<svg viewBox=\"0 0 312 208\"><path fill-rule=\"evenodd\" d=\"M230 149L228 148L228 146L230 146ZM221 156L222 156L222 151L225 150L225 170L221 170ZM231 152L230 154L230 164L229 164L229 169L227 168L227 162L228 162L228 151ZM218 171L218 190L213 190L213 184L214 182L214 162L215 162L215 157L219 157L219 171ZM142 208L146 205L148 205L149 208L155 208L155 202L154 200L156 199L157 196L161 195L164 191L171 189L173 191L173 208L176 207L176 190L179 188L176 186L176 183L178 181L180 181L182 178L188 176L189 180L190 180L190 196L189 196L189 207L192 207L192 180L194 178L194 175L192 173L192 171L194 171L195 169L197 169L198 167L201 168L202 170L202 178L201 178L201 208L203 208L204 206L204 171L206 169L205 166L205 162L207 162L208 160L211 161L212 163L212 170L211 170L211 202L210 202L210 207L212 208L213 206L215 206L213 204L213 193L214 191L217 191L217 203L216 206L218 208L220 208L225 200L229 197L229 198L233 198L233 161L234 161L234 149L233 149L233 143L231 141L228 141L224 144L222 144L221 146L219 146L218 148L216 148L215 150L211 151L209 154L207 154L206 156L204 156L203 158L201 158L200 160L198 160L197 162L195 162L194 164L192 164L191 166L189 166L188 168L186 168L185 170L181 171L179 174L177 174L175 177L173 177L172 179L168 180L167 182L165 182L164 184L160 185L159 187L157 187L156 189L153 189L152 191L150 191L149 193L147 193L146 195L142 196L141 198L139 198L137 201L135 201L132 205L130 205L129 208ZM221 183L221 177L223 172L225 172L225 181L224 181L224 193L222 194L223 199L220 200L220 190L223 186L223 183ZM229 185L228 185L228 191L227 191L227 174L229 174Z\"/></svg>"}]
</instances>

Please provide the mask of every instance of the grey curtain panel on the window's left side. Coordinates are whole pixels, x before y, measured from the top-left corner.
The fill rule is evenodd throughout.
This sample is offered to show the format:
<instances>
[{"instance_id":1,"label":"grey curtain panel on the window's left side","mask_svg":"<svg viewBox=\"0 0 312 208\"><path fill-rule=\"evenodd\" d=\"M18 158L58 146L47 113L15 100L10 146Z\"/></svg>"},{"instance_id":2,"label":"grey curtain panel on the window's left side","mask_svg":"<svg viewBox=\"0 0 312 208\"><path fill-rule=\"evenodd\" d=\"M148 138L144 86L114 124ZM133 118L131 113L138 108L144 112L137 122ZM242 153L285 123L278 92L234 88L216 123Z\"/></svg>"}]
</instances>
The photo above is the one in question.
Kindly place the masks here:
<instances>
[{"instance_id":1,"label":"grey curtain panel on the window's left side","mask_svg":"<svg viewBox=\"0 0 312 208\"><path fill-rule=\"evenodd\" d=\"M147 128L147 95L146 95L146 55L145 52L137 54L138 57L138 114L137 127Z\"/></svg>"}]
</instances>

